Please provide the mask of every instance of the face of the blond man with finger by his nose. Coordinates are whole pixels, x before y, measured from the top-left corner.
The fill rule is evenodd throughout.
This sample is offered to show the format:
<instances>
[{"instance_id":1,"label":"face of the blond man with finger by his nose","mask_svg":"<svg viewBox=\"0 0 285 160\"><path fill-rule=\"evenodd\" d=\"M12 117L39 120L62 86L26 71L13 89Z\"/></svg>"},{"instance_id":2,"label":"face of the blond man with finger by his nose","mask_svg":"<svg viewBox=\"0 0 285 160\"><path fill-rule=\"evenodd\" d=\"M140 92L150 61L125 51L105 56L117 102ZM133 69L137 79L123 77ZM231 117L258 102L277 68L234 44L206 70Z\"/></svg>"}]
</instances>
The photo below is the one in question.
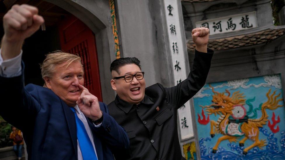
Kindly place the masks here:
<instances>
[{"instance_id":1,"label":"face of the blond man with finger by his nose","mask_svg":"<svg viewBox=\"0 0 285 160\"><path fill-rule=\"evenodd\" d=\"M78 85L84 85L83 69L79 61L58 64L51 78L45 77L46 86L60 97L68 106L75 106L81 90Z\"/></svg>"}]
</instances>

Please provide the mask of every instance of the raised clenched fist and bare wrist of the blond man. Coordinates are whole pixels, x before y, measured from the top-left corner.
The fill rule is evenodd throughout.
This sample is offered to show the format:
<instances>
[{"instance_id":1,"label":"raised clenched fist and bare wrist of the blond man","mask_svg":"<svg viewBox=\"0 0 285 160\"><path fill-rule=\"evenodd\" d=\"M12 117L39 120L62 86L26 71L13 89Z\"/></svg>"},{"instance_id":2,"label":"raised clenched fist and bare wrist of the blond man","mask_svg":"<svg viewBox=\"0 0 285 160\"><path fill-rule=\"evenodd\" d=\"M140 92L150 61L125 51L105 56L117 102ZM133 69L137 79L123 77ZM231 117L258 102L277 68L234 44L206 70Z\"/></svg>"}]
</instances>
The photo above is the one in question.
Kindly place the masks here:
<instances>
[{"instance_id":1,"label":"raised clenched fist and bare wrist of the blond man","mask_svg":"<svg viewBox=\"0 0 285 160\"><path fill-rule=\"evenodd\" d=\"M2 38L1 55L3 60L20 54L26 38L34 34L44 23L38 15L38 9L27 4L15 4L3 17L4 36Z\"/></svg>"}]
</instances>

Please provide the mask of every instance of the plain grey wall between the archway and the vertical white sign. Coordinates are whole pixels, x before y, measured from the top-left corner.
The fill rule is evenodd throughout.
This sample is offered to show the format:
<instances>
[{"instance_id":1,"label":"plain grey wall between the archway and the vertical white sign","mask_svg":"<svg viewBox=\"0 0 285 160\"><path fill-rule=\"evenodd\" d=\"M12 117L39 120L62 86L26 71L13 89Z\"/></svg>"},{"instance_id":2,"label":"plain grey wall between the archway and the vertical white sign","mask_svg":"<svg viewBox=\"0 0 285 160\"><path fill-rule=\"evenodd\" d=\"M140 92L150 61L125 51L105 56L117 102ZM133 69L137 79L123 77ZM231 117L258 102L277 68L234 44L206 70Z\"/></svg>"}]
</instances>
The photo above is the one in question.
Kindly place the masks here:
<instances>
[{"instance_id":1,"label":"plain grey wall between the archway and the vertical white sign","mask_svg":"<svg viewBox=\"0 0 285 160\"><path fill-rule=\"evenodd\" d=\"M173 73L162 0L117 1L121 57L137 57L146 85L173 84ZM117 24L118 25L118 24Z\"/></svg>"}]
</instances>

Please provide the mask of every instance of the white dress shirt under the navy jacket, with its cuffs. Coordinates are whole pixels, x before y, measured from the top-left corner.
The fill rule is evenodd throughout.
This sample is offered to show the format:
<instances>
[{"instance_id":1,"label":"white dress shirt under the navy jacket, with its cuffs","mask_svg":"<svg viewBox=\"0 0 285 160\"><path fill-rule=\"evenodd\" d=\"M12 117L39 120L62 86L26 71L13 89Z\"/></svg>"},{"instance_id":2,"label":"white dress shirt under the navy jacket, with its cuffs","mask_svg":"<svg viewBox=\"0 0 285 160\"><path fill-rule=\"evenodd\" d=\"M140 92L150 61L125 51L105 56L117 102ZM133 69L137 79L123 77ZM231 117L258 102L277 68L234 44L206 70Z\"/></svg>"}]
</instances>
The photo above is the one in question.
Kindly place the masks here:
<instances>
[{"instance_id":1,"label":"white dress shirt under the navy jacket, with its cuffs","mask_svg":"<svg viewBox=\"0 0 285 160\"><path fill-rule=\"evenodd\" d=\"M0 76L6 77L6 78L12 78L12 77L16 77L16 76L21 75L22 74L21 60L22 60L22 50L21 50L21 53L18 56L14 57L12 59L8 59L8 60L3 61L3 58L2 58L2 55L1 55L1 49L0 49ZM89 138L91 140L92 146L94 148L96 157L98 159L96 148L95 148L95 144L94 144L93 135L92 135L91 129L90 129L89 125L88 125L87 119L83 115L83 113L79 110L79 107L77 105L74 106L74 108L76 110L75 112L76 112L78 118L84 124L84 127L85 127L85 129L87 131L87 134L88 134L88 136L89 136ZM93 123L93 125L95 127L100 127L102 125L102 123L100 123L98 125L95 125ZM70 147L72 147L72 146L70 146ZM77 155L78 155L78 160L83 160L78 139L77 139Z\"/></svg>"}]
</instances>

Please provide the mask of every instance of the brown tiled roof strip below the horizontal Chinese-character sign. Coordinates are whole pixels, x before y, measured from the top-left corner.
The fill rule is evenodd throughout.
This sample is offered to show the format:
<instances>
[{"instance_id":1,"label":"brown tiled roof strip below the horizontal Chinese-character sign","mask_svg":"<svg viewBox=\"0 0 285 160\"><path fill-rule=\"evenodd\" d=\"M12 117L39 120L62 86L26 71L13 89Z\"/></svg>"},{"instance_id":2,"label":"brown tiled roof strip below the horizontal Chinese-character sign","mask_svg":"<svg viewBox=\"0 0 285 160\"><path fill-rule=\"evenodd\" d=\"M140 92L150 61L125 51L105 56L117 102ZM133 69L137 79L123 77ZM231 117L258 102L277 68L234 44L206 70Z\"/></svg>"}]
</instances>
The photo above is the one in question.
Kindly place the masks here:
<instances>
[{"instance_id":1,"label":"brown tiled roof strip below the horizontal Chinese-character sign","mask_svg":"<svg viewBox=\"0 0 285 160\"><path fill-rule=\"evenodd\" d=\"M256 33L244 34L240 36L210 39L208 42L208 48L211 48L212 50L226 50L230 48L269 43L270 41L282 36L284 33L285 29L266 29ZM193 50L195 50L195 44L192 40L190 40L187 42L187 51Z\"/></svg>"}]
</instances>

